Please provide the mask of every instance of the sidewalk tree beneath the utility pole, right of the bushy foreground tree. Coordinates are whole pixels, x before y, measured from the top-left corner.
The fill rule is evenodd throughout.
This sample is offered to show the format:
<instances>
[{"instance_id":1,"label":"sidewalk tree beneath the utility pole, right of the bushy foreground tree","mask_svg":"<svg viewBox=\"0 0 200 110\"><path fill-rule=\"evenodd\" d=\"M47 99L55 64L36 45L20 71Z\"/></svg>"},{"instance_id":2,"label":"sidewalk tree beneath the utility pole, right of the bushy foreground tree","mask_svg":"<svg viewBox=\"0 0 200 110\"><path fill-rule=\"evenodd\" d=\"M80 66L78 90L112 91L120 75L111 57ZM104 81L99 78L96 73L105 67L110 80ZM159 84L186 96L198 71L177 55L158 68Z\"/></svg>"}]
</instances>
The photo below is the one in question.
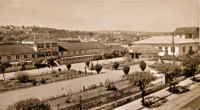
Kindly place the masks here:
<instances>
[{"instance_id":1,"label":"sidewalk tree beneath the utility pole, right of the bushy foreground tree","mask_svg":"<svg viewBox=\"0 0 200 110\"><path fill-rule=\"evenodd\" d=\"M175 90L176 89L175 75L178 74L178 66L171 65L171 64L159 65L157 66L157 70L165 75L165 81L166 83L169 83L170 90L171 91ZM173 86L173 90L172 90L172 86Z\"/></svg>"}]
</instances>

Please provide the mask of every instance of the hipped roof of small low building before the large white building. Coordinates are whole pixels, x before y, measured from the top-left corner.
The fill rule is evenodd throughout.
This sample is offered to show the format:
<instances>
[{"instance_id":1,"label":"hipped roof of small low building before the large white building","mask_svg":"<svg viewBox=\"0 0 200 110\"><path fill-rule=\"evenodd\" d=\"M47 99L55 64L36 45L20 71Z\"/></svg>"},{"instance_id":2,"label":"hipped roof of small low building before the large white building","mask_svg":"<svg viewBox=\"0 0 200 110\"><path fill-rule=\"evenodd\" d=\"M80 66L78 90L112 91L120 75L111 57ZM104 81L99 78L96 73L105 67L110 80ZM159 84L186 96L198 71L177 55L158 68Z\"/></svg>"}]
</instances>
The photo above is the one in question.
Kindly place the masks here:
<instances>
[{"instance_id":1,"label":"hipped roof of small low building before the large white building","mask_svg":"<svg viewBox=\"0 0 200 110\"><path fill-rule=\"evenodd\" d=\"M150 45L132 45L128 48L130 53L159 53L162 50Z\"/></svg>"}]
</instances>

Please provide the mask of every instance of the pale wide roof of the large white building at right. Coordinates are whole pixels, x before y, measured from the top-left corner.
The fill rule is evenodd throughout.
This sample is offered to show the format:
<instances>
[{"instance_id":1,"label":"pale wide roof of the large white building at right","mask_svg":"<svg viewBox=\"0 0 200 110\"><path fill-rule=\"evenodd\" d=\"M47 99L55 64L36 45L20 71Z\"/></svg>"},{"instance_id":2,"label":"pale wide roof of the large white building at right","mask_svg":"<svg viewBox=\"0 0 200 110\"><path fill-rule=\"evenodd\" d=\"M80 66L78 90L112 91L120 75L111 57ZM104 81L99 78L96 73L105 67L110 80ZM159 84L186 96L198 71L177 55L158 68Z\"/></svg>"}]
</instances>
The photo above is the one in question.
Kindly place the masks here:
<instances>
[{"instance_id":1,"label":"pale wide roof of the large white building at right","mask_svg":"<svg viewBox=\"0 0 200 110\"><path fill-rule=\"evenodd\" d=\"M182 43L194 43L198 42L194 39L184 39L180 37L174 37L174 43L175 44L182 44ZM136 41L133 44L171 44L172 43L172 36L156 36L156 37L150 37L148 39Z\"/></svg>"}]
</instances>

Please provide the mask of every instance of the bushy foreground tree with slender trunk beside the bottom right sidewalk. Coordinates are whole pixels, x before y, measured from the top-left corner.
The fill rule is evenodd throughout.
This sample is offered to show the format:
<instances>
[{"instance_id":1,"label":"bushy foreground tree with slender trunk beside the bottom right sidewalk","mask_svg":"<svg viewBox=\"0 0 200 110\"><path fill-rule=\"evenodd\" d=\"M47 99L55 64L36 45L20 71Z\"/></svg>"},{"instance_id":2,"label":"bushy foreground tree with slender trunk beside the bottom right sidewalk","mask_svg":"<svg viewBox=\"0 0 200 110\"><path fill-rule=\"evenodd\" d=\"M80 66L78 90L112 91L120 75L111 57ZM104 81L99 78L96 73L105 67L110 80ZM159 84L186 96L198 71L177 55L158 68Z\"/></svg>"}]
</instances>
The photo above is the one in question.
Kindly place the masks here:
<instances>
[{"instance_id":1,"label":"bushy foreground tree with slender trunk beside the bottom right sidewalk","mask_svg":"<svg viewBox=\"0 0 200 110\"><path fill-rule=\"evenodd\" d=\"M128 79L131 84L137 86L142 92L142 104L144 104L145 88L154 81L156 78L150 72L136 71L133 74L128 75Z\"/></svg>"}]
</instances>

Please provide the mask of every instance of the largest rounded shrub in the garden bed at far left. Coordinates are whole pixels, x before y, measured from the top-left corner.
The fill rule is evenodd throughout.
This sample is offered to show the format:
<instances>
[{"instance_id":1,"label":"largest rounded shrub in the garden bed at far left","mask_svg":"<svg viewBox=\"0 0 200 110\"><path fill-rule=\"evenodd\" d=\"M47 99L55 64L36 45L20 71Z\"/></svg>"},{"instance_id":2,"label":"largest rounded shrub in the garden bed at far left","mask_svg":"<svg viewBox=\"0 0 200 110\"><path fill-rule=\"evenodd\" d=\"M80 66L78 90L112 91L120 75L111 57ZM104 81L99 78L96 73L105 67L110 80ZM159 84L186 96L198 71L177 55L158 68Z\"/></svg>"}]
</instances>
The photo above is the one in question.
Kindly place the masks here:
<instances>
[{"instance_id":1,"label":"largest rounded shrub in the garden bed at far left","mask_svg":"<svg viewBox=\"0 0 200 110\"><path fill-rule=\"evenodd\" d=\"M15 74L17 79L21 82L21 83L26 83L26 82L29 82L29 74L28 73L22 73L22 72L19 72L19 73L16 73Z\"/></svg>"}]
</instances>

